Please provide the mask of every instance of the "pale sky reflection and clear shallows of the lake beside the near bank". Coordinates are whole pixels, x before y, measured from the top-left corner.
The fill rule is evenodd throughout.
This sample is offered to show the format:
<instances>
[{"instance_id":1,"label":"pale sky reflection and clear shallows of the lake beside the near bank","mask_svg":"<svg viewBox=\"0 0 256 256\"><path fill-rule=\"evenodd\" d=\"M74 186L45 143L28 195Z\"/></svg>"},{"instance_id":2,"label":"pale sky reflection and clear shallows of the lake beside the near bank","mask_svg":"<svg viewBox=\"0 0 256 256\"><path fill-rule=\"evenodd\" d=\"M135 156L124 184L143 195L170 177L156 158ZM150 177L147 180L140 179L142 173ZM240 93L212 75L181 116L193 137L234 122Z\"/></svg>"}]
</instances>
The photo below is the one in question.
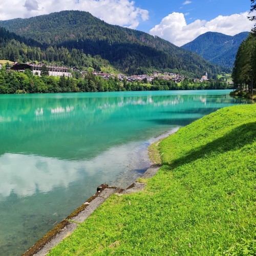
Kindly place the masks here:
<instances>
[{"instance_id":1,"label":"pale sky reflection and clear shallows of the lake beside the near bank","mask_svg":"<svg viewBox=\"0 0 256 256\"><path fill-rule=\"evenodd\" d=\"M92 196L97 185L130 185L150 165L145 149L151 142L116 146L84 161L4 154L0 157L0 254L22 254L53 223Z\"/></svg>"}]
</instances>

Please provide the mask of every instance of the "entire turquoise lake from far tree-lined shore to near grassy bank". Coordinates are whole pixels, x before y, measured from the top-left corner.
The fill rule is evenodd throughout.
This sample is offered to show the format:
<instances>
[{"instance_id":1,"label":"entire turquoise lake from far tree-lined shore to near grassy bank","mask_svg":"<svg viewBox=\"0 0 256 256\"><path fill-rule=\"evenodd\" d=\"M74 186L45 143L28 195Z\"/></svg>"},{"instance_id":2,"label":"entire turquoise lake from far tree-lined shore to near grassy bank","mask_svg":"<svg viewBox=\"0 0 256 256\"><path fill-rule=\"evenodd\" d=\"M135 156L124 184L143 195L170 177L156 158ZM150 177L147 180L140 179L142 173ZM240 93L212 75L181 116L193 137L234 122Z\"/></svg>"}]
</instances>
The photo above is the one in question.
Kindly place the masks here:
<instances>
[{"instance_id":1,"label":"entire turquoise lake from far tree-lined shore to near grassy bank","mask_svg":"<svg viewBox=\"0 0 256 256\"><path fill-rule=\"evenodd\" d=\"M0 95L0 255L22 254L101 183L129 186L158 136L249 103L229 92Z\"/></svg>"}]
</instances>

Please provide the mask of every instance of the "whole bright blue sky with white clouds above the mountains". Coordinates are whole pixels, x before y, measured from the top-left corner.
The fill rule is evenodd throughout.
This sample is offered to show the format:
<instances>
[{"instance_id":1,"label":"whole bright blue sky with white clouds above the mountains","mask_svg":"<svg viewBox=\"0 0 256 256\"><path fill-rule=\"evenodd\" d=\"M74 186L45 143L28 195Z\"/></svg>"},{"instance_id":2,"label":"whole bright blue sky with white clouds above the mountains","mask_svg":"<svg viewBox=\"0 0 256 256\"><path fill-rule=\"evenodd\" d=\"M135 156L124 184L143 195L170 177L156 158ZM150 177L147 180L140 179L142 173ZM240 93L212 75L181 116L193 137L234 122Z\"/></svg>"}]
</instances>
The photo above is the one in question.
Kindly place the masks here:
<instances>
[{"instance_id":1,"label":"whole bright blue sky with white clouds above the mountains","mask_svg":"<svg viewBox=\"0 0 256 256\"><path fill-rule=\"evenodd\" d=\"M142 30L177 46L212 31L250 31L250 0L9 0L0 19L28 18L61 10L88 11L109 24Z\"/></svg>"}]
</instances>

